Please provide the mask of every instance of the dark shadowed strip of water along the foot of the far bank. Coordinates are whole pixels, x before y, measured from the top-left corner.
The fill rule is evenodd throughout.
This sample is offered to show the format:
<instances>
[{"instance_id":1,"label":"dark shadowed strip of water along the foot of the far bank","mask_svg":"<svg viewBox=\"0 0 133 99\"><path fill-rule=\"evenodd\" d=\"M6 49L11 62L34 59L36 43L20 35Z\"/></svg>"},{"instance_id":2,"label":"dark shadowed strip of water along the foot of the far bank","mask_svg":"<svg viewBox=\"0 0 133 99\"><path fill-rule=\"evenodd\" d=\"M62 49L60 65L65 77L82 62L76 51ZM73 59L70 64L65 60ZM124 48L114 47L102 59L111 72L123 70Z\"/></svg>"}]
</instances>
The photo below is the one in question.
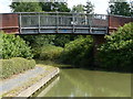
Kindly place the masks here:
<instances>
[{"instance_id":1,"label":"dark shadowed strip of water along the foot of the far bank","mask_svg":"<svg viewBox=\"0 0 133 99\"><path fill-rule=\"evenodd\" d=\"M54 67L59 67L61 69L85 69L85 70L98 70L98 72L109 72L109 73L133 73L132 69L131 70L120 70L120 69L108 69L108 68L101 68L98 65L86 65L86 66L74 66L71 64L63 64L59 61L40 61L40 59L35 59L37 64L41 64L44 66L54 66Z\"/></svg>"}]
</instances>

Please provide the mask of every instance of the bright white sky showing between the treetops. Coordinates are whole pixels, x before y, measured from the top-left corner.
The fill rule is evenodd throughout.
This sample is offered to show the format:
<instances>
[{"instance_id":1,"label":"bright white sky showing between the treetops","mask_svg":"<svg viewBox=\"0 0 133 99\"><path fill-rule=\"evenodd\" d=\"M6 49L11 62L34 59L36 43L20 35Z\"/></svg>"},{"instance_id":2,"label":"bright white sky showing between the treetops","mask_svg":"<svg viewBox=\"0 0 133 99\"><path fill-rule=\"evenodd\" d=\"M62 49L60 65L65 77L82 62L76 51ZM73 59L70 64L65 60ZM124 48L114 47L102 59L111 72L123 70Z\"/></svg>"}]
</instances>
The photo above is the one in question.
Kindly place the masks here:
<instances>
[{"instance_id":1,"label":"bright white sky showing between the treetops","mask_svg":"<svg viewBox=\"0 0 133 99\"><path fill-rule=\"evenodd\" d=\"M76 4L85 4L88 0L66 0L69 8ZM106 14L110 0L90 0L94 4L94 12L99 14ZM131 0L127 0L131 1ZM0 13L11 12L10 6L11 0L0 0Z\"/></svg>"}]
</instances>

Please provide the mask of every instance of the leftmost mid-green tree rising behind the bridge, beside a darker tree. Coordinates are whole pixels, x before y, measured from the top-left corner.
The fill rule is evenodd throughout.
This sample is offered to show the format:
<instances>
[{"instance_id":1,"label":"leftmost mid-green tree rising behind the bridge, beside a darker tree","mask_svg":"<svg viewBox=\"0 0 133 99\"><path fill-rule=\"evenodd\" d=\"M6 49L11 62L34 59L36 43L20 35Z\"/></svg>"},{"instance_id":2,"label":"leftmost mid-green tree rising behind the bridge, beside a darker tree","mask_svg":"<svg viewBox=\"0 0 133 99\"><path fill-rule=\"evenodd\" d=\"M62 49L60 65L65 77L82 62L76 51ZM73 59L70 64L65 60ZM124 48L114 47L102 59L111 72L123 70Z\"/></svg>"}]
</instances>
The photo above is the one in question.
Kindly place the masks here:
<instances>
[{"instance_id":1,"label":"leftmost mid-green tree rising behind the bridge, beside a darker tree","mask_svg":"<svg viewBox=\"0 0 133 99\"><path fill-rule=\"evenodd\" d=\"M10 8L13 12L41 12L39 2L12 2Z\"/></svg>"}]
</instances>

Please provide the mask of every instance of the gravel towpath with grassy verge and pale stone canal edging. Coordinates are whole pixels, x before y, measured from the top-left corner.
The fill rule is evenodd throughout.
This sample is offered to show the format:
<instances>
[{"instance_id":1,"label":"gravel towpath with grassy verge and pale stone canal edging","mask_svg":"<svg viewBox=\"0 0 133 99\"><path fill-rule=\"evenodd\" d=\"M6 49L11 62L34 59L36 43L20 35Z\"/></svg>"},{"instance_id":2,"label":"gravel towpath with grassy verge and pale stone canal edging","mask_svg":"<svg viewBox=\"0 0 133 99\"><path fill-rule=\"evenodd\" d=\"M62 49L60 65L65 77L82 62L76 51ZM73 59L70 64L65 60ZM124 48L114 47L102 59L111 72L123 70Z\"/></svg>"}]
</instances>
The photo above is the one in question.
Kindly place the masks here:
<instances>
[{"instance_id":1,"label":"gravel towpath with grassy verge and pale stone canal edging","mask_svg":"<svg viewBox=\"0 0 133 99\"><path fill-rule=\"evenodd\" d=\"M57 67L37 65L34 69L0 80L0 97L30 97L59 73Z\"/></svg>"}]
</instances>

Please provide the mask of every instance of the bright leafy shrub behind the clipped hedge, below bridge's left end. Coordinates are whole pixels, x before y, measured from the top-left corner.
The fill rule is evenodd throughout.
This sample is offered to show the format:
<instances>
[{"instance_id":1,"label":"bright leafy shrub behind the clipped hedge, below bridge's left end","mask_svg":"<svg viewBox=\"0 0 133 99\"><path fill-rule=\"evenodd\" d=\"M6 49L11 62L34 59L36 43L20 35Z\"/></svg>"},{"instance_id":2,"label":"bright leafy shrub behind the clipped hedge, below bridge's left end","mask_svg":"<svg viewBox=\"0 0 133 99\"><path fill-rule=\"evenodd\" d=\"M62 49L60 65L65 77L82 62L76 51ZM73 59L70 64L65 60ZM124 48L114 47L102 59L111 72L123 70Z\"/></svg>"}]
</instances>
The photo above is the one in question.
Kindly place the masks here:
<instances>
[{"instance_id":1,"label":"bright leafy shrub behind the clipped hedge, below bridge's left end","mask_svg":"<svg viewBox=\"0 0 133 99\"><path fill-rule=\"evenodd\" d=\"M3 32L0 32L2 36L2 58L11 58L11 57L24 57L24 58L32 58L33 55L31 53L31 47L25 44L25 42L14 35L9 35Z\"/></svg>"}]
</instances>

